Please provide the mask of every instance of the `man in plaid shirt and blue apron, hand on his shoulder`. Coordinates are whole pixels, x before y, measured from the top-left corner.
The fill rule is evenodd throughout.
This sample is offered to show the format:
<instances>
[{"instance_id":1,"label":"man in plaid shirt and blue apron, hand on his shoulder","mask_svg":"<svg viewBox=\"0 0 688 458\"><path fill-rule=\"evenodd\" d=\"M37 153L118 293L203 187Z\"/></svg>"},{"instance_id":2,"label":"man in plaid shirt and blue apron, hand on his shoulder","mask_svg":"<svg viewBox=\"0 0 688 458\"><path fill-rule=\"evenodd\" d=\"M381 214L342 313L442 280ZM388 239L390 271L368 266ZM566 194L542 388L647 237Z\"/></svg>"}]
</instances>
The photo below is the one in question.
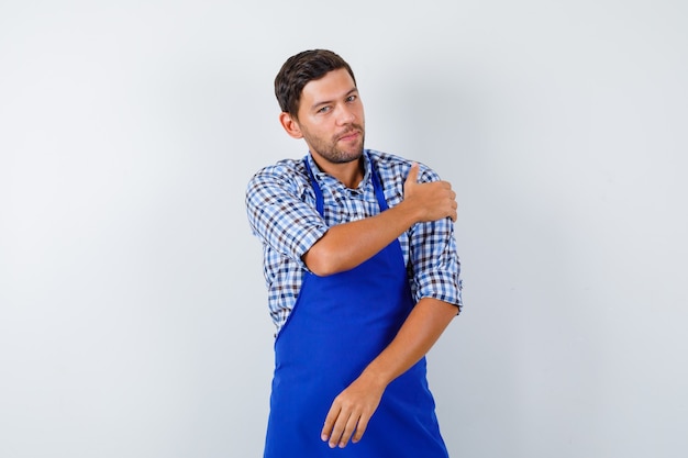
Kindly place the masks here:
<instances>
[{"instance_id":1,"label":"man in plaid shirt and blue apron, hand on his shoulder","mask_svg":"<svg viewBox=\"0 0 688 458\"><path fill-rule=\"evenodd\" d=\"M462 305L455 193L364 149L339 55L290 57L275 92L309 154L262 169L246 193L277 326L265 457L446 457L424 355Z\"/></svg>"}]
</instances>

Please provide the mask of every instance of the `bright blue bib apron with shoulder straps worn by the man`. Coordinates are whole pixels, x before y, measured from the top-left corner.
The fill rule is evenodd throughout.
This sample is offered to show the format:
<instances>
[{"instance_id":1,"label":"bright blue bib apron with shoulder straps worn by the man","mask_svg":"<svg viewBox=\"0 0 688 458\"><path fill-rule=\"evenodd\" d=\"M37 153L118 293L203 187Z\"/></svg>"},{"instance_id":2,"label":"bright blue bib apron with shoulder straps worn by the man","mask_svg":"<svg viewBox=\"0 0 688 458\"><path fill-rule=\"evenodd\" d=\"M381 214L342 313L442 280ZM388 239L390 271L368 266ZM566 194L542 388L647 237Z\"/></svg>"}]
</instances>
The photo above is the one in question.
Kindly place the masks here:
<instances>
[{"instance_id":1,"label":"bright blue bib apron with shoulder straps worn by the man","mask_svg":"<svg viewBox=\"0 0 688 458\"><path fill-rule=\"evenodd\" d=\"M304 163L323 215L322 192ZM371 169L385 211L382 187ZM428 389L425 358L387 387L360 442L331 449L320 438L334 398L389 345L413 305L399 241L351 270L328 277L306 273L275 342L264 458L448 457Z\"/></svg>"}]
</instances>

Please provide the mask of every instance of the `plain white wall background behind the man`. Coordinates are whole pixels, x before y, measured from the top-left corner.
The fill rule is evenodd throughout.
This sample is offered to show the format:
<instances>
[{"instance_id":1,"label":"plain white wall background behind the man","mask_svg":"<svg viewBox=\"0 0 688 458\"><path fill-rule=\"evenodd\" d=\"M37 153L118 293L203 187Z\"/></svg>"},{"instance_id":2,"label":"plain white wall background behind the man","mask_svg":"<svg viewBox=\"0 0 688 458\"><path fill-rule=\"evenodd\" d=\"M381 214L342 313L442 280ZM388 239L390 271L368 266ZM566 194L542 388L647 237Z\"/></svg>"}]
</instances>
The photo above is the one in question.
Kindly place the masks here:
<instances>
[{"instance_id":1,"label":"plain white wall background behind the man","mask_svg":"<svg viewBox=\"0 0 688 458\"><path fill-rule=\"evenodd\" d=\"M3 0L0 456L260 456L244 189L306 154L271 85L313 47L458 193L452 456L685 456L687 4Z\"/></svg>"}]
</instances>

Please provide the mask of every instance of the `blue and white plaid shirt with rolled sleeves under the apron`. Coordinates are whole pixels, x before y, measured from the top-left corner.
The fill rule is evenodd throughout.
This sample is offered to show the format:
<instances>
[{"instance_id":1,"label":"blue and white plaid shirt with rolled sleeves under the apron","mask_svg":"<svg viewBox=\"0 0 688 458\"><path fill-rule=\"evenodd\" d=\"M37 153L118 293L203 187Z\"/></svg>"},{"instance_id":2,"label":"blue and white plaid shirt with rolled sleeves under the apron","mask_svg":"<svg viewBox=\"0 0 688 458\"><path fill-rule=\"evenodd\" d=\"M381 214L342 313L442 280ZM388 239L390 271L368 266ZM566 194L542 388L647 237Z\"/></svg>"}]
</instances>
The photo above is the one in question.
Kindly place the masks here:
<instances>
[{"instance_id":1,"label":"blue and white plaid shirt with rolled sleeves under the apron","mask_svg":"<svg viewBox=\"0 0 688 458\"><path fill-rule=\"evenodd\" d=\"M310 154L306 157L322 189L324 217L315 210L315 194L303 160L285 159L259 170L248 182L248 223L263 243L264 275L270 315L279 333L293 308L303 273L301 256L328 228L380 212L370 165L379 174L389 208L403 200L403 182L411 163L398 156L366 149L365 175L356 189L320 171ZM419 181L439 180L420 165ZM460 264L456 254L454 225L444 219L417 223L399 236L414 300L434 298L462 308Z\"/></svg>"}]
</instances>

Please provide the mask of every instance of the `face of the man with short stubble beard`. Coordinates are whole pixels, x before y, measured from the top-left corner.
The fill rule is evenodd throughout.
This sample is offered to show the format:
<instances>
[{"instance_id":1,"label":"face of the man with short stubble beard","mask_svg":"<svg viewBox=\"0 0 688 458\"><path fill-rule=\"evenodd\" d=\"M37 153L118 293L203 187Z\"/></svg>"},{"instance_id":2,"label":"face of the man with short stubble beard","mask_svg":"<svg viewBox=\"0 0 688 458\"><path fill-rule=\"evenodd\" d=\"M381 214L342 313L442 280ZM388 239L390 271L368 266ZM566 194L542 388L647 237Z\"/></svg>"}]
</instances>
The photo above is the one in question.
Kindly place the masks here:
<instances>
[{"instance_id":1,"label":"face of the man with short stubble beard","mask_svg":"<svg viewBox=\"0 0 688 458\"><path fill-rule=\"evenodd\" d=\"M301 91L297 124L311 153L332 164L357 160L363 155L363 103L345 68L309 81Z\"/></svg>"}]
</instances>

